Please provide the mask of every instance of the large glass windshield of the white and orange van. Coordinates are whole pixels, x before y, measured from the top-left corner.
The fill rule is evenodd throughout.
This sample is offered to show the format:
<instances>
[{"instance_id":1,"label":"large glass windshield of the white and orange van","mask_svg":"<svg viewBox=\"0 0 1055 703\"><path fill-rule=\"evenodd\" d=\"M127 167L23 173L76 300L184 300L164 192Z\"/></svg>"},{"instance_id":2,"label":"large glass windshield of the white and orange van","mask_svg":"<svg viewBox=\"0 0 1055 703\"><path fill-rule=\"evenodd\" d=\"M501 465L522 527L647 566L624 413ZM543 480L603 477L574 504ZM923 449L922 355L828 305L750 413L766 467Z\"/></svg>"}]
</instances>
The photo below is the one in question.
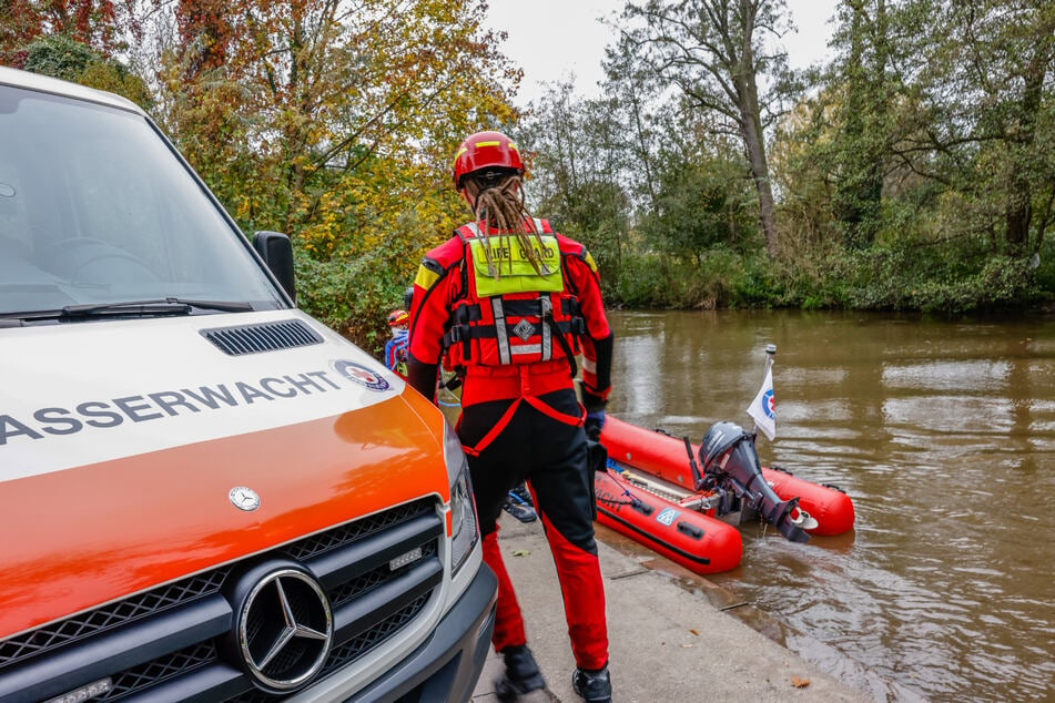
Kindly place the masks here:
<instances>
[{"instance_id":1,"label":"large glass windshield of the white and orange van","mask_svg":"<svg viewBox=\"0 0 1055 703\"><path fill-rule=\"evenodd\" d=\"M170 298L286 306L146 120L0 85L0 315Z\"/></svg>"}]
</instances>

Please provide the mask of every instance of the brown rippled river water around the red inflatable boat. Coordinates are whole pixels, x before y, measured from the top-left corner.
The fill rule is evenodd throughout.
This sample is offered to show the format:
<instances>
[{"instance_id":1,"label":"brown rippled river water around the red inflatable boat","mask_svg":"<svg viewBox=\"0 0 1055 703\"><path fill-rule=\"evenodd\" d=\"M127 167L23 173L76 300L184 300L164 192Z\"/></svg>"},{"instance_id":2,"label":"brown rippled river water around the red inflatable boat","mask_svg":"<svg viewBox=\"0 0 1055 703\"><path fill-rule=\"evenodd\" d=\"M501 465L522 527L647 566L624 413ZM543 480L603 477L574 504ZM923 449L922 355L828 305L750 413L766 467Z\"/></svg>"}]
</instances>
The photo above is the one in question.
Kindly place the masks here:
<instances>
[{"instance_id":1,"label":"brown rippled river water around the red inflatable boat","mask_svg":"<svg viewBox=\"0 0 1055 703\"><path fill-rule=\"evenodd\" d=\"M1055 700L1055 317L609 320L609 411L693 442L752 429L777 345L762 463L838 485L856 522L807 544L741 527L741 566L707 580L771 635L876 700Z\"/></svg>"}]
</instances>

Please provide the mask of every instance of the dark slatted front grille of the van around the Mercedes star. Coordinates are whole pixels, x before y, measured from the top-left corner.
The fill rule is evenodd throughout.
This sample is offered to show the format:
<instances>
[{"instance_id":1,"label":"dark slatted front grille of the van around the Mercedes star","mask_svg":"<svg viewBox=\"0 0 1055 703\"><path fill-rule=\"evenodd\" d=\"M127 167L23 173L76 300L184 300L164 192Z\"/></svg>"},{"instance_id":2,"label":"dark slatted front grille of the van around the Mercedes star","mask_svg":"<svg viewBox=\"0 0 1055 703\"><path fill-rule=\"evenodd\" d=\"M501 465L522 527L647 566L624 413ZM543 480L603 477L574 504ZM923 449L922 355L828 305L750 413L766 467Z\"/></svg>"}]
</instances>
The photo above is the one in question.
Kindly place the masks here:
<instances>
[{"instance_id":1,"label":"dark slatted front grille of the van around the Mercedes star","mask_svg":"<svg viewBox=\"0 0 1055 703\"><path fill-rule=\"evenodd\" d=\"M0 701L49 699L104 679L110 691L92 701L165 700L175 692L276 700L256 690L237 656L221 646L235 626L234 587L251 583L245 574L258 564L306 569L336 623L325 676L425 610L443 580L437 508L435 499L420 499L9 638L0 642ZM394 563L407 553L419 556Z\"/></svg>"}]
</instances>

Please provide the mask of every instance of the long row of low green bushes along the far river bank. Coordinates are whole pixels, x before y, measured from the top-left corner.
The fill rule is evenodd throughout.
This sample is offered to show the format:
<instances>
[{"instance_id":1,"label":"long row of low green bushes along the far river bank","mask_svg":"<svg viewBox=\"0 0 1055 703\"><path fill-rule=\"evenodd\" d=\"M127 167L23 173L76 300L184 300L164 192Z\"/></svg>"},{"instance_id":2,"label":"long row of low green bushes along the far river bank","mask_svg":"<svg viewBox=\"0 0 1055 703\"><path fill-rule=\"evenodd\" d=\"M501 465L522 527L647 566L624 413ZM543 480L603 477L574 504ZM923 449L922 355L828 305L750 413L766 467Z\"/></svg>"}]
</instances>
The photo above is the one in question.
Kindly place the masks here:
<instances>
[{"instance_id":1,"label":"long row of low green bushes along the far river bank","mask_svg":"<svg viewBox=\"0 0 1055 703\"><path fill-rule=\"evenodd\" d=\"M905 242L775 261L718 247L696 265L672 256L627 256L606 289L611 305L688 309L801 309L965 313L1046 303L1055 297L1055 247L1039 266L994 256L972 240Z\"/></svg>"}]
</instances>

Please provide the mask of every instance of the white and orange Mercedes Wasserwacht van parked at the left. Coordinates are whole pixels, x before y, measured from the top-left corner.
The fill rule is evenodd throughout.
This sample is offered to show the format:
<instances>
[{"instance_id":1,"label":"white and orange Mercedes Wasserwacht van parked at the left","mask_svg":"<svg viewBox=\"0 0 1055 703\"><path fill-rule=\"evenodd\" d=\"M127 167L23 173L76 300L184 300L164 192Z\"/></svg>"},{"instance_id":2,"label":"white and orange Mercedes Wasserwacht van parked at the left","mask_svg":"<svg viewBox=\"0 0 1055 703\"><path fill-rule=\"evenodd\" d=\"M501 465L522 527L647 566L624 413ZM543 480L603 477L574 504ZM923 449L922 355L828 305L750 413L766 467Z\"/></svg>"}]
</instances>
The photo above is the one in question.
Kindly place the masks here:
<instances>
[{"instance_id":1,"label":"white and orange Mercedes Wasserwacht van parked at the left","mask_svg":"<svg viewBox=\"0 0 1055 703\"><path fill-rule=\"evenodd\" d=\"M471 695L461 448L292 271L135 105L0 69L0 701Z\"/></svg>"}]
</instances>

